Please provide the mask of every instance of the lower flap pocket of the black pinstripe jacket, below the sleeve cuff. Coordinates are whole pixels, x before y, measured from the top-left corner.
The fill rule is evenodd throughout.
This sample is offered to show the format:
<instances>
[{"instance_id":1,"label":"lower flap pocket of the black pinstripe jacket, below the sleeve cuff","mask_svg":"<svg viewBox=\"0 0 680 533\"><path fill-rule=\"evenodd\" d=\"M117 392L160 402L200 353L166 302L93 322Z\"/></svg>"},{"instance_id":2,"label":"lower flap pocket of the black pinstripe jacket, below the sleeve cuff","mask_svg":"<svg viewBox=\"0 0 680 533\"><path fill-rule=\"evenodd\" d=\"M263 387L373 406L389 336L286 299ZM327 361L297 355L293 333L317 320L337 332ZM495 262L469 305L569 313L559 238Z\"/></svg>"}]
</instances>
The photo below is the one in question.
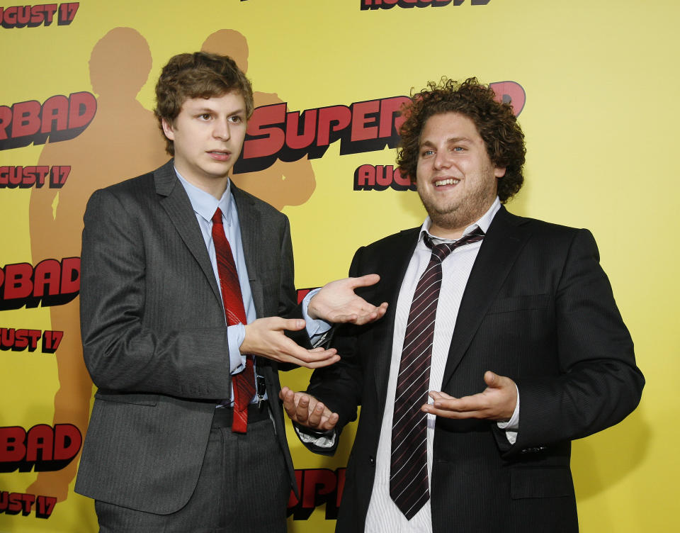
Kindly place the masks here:
<instances>
[{"instance_id":1,"label":"lower flap pocket of the black pinstripe jacket, below the sleeve cuff","mask_svg":"<svg viewBox=\"0 0 680 533\"><path fill-rule=\"evenodd\" d=\"M510 491L514 500L570 496L574 493L572 473L562 466L511 469Z\"/></svg>"}]
</instances>

